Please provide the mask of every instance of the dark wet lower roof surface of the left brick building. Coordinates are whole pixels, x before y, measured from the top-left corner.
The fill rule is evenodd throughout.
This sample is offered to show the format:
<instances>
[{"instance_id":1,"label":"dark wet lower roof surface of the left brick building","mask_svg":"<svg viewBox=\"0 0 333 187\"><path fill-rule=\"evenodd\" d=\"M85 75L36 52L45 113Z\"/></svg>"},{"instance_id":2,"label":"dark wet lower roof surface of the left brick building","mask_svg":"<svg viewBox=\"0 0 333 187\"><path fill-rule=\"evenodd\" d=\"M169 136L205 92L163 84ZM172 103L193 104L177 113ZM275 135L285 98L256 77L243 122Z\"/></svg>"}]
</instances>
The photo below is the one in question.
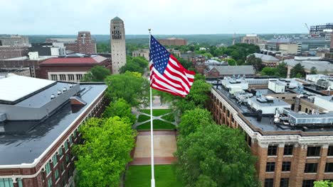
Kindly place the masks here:
<instances>
[{"instance_id":1,"label":"dark wet lower roof surface of the left brick building","mask_svg":"<svg viewBox=\"0 0 333 187\"><path fill-rule=\"evenodd\" d=\"M57 82L57 84L69 83ZM63 133L74 125L80 115L83 115L104 93L107 86L92 83L80 84L78 88L79 91L73 96L85 101L85 106L71 106L67 98L60 103L55 112L43 120L5 120L0 123L0 165L31 164L35 159L40 159L46 150L50 149ZM31 101L33 97L42 98L43 101L45 100L43 98L47 98L50 101L49 90L42 89L21 102L33 103ZM0 106L0 109L1 107L6 108L6 105Z\"/></svg>"}]
</instances>

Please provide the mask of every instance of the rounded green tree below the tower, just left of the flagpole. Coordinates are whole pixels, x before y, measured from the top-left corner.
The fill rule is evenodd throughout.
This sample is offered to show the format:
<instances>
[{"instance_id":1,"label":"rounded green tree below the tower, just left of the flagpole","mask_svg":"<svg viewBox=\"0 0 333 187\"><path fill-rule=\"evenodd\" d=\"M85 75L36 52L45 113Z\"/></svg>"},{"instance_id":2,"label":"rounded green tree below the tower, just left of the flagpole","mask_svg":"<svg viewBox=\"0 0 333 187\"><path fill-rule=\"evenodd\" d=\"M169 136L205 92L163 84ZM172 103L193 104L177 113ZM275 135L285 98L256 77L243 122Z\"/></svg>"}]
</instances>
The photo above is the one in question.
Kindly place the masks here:
<instances>
[{"instance_id":1,"label":"rounded green tree below the tower, just left of the flagpole","mask_svg":"<svg viewBox=\"0 0 333 187\"><path fill-rule=\"evenodd\" d=\"M112 74L105 79L107 84L107 96L112 101L124 98L131 106L147 103L149 94L149 81L138 77L136 73Z\"/></svg>"}]
</instances>

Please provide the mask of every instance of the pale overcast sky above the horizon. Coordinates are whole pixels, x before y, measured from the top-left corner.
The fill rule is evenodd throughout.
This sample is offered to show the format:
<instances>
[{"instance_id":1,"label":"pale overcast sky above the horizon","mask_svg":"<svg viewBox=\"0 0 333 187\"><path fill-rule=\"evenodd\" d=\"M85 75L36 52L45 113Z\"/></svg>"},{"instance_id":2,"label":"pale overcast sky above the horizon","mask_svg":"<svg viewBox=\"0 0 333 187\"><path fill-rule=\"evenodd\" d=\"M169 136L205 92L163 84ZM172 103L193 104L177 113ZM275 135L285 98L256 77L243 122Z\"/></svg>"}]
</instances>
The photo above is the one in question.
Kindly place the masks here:
<instances>
[{"instance_id":1,"label":"pale overcast sky above the horizon","mask_svg":"<svg viewBox=\"0 0 333 187\"><path fill-rule=\"evenodd\" d=\"M307 33L333 23L333 0L0 0L0 34Z\"/></svg>"}]
</instances>

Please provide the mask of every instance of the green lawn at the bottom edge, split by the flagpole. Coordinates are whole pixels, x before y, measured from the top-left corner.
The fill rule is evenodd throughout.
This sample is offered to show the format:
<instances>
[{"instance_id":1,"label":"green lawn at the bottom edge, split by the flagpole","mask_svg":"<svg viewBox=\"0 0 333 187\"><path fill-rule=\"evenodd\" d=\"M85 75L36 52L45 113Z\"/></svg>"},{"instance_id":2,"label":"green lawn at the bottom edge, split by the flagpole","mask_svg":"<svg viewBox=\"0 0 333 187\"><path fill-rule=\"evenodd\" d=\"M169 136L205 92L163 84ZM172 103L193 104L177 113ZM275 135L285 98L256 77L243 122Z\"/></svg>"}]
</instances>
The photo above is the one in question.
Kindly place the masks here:
<instances>
[{"instance_id":1,"label":"green lawn at the bottom edge, split by the flagpole","mask_svg":"<svg viewBox=\"0 0 333 187\"><path fill-rule=\"evenodd\" d=\"M155 165L155 186L181 187L181 182L176 180L172 165ZM151 179L150 166L129 166L126 173L125 187L149 187Z\"/></svg>"}]
</instances>

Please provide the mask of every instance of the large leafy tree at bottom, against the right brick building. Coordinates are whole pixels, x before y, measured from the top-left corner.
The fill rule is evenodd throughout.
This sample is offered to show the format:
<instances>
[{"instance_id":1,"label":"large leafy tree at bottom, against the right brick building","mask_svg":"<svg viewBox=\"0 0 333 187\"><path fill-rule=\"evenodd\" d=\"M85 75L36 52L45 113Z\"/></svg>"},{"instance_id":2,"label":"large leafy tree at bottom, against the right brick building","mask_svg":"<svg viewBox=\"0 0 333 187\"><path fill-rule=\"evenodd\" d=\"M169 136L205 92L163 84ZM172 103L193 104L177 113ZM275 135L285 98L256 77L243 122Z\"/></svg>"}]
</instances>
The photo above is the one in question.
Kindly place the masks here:
<instances>
[{"instance_id":1,"label":"large leafy tree at bottom, against the right brick building","mask_svg":"<svg viewBox=\"0 0 333 187\"><path fill-rule=\"evenodd\" d=\"M185 186L259 186L243 132L208 124L177 140L176 171Z\"/></svg>"}]
</instances>

